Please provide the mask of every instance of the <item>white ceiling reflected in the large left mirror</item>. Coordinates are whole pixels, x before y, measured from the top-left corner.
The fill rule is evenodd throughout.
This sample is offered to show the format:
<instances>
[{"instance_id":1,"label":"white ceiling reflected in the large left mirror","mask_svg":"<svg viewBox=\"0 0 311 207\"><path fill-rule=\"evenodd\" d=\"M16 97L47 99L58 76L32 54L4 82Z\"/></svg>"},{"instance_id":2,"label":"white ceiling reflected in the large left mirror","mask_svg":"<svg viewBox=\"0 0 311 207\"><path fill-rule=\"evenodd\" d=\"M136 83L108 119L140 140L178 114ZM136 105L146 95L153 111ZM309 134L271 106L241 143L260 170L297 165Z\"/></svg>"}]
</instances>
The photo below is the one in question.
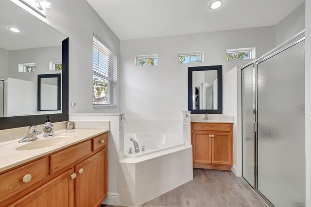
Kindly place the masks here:
<instances>
[{"instance_id":1,"label":"white ceiling reflected in the large left mirror","mask_svg":"<svg viewBox=\"0 0 311 207\"><path fill-rule=\"evenodd\" d=\"M9 27L19 29L11 32ZM10 0L0 0L0 48L6 50L62 45L66 36Z\"/></svg>"}]
</instances>

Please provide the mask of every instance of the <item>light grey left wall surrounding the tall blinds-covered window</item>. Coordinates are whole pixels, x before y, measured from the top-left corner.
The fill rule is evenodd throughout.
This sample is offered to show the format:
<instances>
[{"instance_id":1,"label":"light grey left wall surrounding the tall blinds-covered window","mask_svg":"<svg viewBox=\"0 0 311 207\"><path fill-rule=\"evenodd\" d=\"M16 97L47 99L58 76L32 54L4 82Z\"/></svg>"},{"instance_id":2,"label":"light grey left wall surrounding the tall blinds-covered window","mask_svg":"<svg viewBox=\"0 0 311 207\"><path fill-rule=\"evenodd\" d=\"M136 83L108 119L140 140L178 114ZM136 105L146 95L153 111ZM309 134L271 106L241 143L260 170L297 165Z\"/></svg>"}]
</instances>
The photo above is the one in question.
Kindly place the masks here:
<instances>
[{"instance_id":1,"label":"light grey left wall surrounding the tall blinds-covered window","mask_svg":"<svg viewBox=\"0 0 311 207\"><path fill-rule=\"evenodd\" d=\"M19 0L11 0L23 5ZM25 6L23 6L25 7ZM31 9L27 8L30 12ZM32 12L35 14L35 12ZM69 37L69 100L76 101L70 113L116 113L118 108L93 109L93 32L114 50L120 60L120 40L86 0L53 0L46 18L35 14L59 32ZM120 70L120 64L118 64ZM118 71L118 80L120 74ZM118 84L120 95L120 81Z\"/></svg>"}]
</instances>

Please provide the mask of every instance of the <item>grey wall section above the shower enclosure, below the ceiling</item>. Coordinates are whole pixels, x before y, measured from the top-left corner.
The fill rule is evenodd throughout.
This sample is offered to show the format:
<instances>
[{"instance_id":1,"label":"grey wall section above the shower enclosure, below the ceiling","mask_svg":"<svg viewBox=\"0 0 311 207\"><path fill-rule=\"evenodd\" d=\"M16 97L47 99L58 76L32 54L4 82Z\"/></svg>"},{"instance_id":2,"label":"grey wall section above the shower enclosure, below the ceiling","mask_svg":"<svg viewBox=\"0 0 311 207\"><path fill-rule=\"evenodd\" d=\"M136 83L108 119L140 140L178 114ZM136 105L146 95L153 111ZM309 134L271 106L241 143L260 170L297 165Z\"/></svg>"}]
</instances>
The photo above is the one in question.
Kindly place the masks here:
<instances>
[{"instance_id":1,"label":"grey wall section above the shower enclosure, below the ceiling","mask_svg":"<svg viewBox=\"0 0 311 207\"><path fill-rule=\"evenodd\" d=\"M305 2L276 25L276 45L305 29Z\"/></svg>"}]
</instances>

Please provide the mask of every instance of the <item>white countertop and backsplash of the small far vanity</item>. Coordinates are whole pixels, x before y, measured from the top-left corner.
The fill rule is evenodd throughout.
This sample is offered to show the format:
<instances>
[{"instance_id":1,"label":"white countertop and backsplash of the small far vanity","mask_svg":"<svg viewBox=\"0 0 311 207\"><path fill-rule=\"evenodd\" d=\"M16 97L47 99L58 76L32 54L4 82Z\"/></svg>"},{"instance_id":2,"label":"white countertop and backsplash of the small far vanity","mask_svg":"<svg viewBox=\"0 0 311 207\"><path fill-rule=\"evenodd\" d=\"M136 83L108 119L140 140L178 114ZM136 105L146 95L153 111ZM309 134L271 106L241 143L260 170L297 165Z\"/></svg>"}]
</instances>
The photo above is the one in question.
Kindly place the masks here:
<instances>
[{"instance_id":1,"label":"white countertop and backsplash of the small far vanity","mask_svg":"<svg viewBox=\"0 0 311 207\"><path fill-rule=\"evenodd\" d=\"M205 114L191 114L191 122L202 123L234 123L233 116L225 114L208 114L208 119L204 119Z\"/></svg>"}]
</instances>

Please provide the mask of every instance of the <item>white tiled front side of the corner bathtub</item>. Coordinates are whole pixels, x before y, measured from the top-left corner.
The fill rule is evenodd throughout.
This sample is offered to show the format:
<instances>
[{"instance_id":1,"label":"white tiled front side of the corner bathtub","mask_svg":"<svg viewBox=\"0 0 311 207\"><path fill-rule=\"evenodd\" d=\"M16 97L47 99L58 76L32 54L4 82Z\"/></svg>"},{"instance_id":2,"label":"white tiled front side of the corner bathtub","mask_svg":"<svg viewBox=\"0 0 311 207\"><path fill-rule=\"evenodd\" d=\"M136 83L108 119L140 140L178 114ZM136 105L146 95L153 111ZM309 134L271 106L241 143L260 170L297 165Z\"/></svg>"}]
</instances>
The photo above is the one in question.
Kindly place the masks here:
<instances>
[{"instance_id":1,"label":"white tiled front side of the corner bathtub","mask_svg":"<svg viewBox=\"0 0 311 207\"><path fill-rule=\"evenodd\" d=\"M139 206L193 179L190 143L123 158L119 167L121 206Z\"/></svg>"}]
</instances>

